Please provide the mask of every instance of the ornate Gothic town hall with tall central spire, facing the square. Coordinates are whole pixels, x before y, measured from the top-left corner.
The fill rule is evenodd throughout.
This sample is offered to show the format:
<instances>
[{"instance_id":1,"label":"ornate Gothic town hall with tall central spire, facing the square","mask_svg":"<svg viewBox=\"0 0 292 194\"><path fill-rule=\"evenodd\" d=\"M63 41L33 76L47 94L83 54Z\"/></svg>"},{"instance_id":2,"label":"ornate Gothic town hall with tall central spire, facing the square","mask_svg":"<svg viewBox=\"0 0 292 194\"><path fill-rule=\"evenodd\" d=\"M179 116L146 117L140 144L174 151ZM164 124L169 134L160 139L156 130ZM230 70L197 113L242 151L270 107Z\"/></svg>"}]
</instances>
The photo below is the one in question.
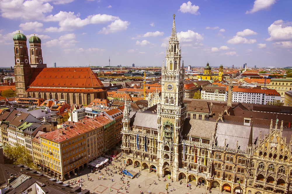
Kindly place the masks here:
<instances>
[{"instance_id":1,"label":"ornate Gothic town hall with tall central spire, facing the square","mask_svg":"<svg viewBox=\"0 0 292 194\"><path fill-rule=\"evenodd\" d=\"M232 103L232 83L227 103L184 102L175 15L161 75L157 105L135 112L125 102L121 149L128 165L230 193L292 193L290 109L274 114Z\"/></svg>"}]
</instances>

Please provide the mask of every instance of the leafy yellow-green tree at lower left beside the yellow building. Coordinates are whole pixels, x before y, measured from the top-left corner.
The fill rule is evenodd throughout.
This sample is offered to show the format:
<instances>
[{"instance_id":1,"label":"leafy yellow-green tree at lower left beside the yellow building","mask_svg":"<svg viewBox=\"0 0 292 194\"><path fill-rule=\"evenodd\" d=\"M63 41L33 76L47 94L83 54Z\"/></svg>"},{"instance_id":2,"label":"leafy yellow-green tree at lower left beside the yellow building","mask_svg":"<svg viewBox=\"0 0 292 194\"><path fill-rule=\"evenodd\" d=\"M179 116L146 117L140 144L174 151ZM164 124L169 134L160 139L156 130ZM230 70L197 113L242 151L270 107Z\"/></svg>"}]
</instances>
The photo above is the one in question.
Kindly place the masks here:
<instances>
[{"instance_id":1,"label":"leafy yellow-green tree at lower left beside the yellow building","mask_svg":"<svg viewBox=\"0 0 292 194\"><path fill-rule=\"evenodd\" d=\"M7 159L13 162L13 164L24 164L26 166L29 166L31 168L37 168L36 165L34 165L34 161L32 158L32 155L30 155L30 152L28 149L26 149L22 145L7 145L4 147L4 156L6 156Z\"/></svg>"}]
</instances>

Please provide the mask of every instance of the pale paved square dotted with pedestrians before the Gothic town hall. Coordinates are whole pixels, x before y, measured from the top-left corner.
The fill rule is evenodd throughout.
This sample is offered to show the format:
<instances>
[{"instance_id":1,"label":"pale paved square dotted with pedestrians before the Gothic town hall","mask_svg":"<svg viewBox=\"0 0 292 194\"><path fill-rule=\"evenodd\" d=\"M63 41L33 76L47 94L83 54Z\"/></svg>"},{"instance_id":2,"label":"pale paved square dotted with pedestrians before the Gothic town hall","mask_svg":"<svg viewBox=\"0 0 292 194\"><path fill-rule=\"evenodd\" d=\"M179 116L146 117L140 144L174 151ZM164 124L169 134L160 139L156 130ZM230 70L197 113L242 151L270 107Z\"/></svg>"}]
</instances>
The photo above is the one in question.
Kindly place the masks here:
<instances>
[{"instance_id":1,"label":"pale paved square dotted with pedestrians before the Gothic town hall","mask_svg":"<svg viewBox=\"0 0 292 194\"><path fill-rule=\"evenodd\" d=\"M117 167L121 166L121 162L113 162L114 165L116 165ZM110 168L112 168L112 166L110 166ZM131 170L134 172L139 172L140 168L133 168L132 165L126 167L126 170ZM116 170L113 170L116 171ZM117 169L117 172L119 171L119 169ZM105 175L105 177L107 178L106 180L98 180L98 177L100 176L100 173L91 173L90 170L88 168L84 169L84 171L82 171L81 173L81 178L84 179L84 182L82 183L82 189L88 189L90 190L90 192L96 192L98 194L108 194L108 193L112 193L112 194L116 194L117 192L121 193L121 194L126 194L126 190L125 187L127 188L127 176L124 177L124 184L123 181L120 180L120 178L122 177L119 174L113 174L112 177L110 177L110 179L108 179L108 175L105 173L105 170L102 169L101 172ZM92 179L92 181L88 181L87 178L87 173L89 178ZM79 176L73 176L71 177L72 179L70 179L70 183L71 180L73 179L77 179L79 180ZM113 179L113 182L112 182ZM128 178L129 181L129 187L127 188L128 193L140 193L140 190L147 194L148 191L150 191L150 193L152 194L162 194L162 193L166 193L166 183L170 183L171 185L168 186L168 193L173 193L173 194L185 194L186 192L190 192L192 194L205 194L206 192L208 193L208 191L206 190L206 186L202 186L202 187L196 187L196 183L194 182L190 182L191 184L191 189L187 187L187 184L185 183L185 180L183 179L183 183L180 185L179 181L174 181L171 182L171 179L166 179L167 181L163 181L162 177L160 177L160 181L158 180L158 177L156 176L155 172L150 172L148 173L147 170L142 170L141 171L141 176L138 178L134 178L134 179L130 179ZM66 180L65 182L67 183L68 180ZM145 182L146 181L146 182ZM156 181L156 185L154 185L154 181ZM140 184L140 188L138 188L138 185ZM77 186L78 183L74 186ZM170 191L173 190L173 188L175 188L175 191ZM111 191L110 191L111 190ZM219 189L218 188L212 188L212 193L213 194L217 194L219 193ZM223 191L223 193L227 193L225 191ZM220 192L221 194L221 192Z\"/></svg>"}]
</instances>

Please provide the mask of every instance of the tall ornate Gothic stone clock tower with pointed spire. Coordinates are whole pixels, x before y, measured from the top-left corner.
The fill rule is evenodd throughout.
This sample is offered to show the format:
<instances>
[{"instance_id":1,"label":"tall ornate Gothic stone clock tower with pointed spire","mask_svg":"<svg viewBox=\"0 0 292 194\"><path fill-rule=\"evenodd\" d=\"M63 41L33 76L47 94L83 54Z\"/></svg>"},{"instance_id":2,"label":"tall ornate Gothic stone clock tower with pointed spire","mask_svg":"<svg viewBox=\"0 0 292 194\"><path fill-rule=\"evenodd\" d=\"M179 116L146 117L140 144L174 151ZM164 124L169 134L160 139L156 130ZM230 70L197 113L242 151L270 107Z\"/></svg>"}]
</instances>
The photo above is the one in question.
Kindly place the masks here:
<instances>
[{"instance_id":1,"label":"tall ornate Gothic stone clock tower with pointed spire","mask_svg":"<svg viewBox=\"0 0 292 194\"><path fill-rule=\"evenodd\" d=\"M181 49L173 26L166 50L166 65L161 69L161 102L157 104L157 172L178 180L180 140L183 123L186 118L184 97L185 69L181 65Z\"/></svg>"}]
</instances>

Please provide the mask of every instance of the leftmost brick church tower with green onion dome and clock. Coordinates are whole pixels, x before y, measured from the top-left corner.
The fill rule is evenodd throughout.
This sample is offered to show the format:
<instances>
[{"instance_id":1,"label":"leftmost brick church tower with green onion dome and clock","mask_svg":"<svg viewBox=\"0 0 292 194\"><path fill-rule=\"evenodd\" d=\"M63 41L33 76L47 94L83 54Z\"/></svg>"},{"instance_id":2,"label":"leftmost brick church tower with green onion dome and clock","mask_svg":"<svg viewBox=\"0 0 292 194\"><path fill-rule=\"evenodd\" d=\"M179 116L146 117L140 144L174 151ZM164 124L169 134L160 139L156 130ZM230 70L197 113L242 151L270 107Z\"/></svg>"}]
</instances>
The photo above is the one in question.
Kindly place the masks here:
<instances>
[{"instance_id":1,"label":"leftmost brick church tower with green onion dome and clock","mask_svg":"<svg viewBox=\"0 0 292 194\"><path fill-rule=\"evenodd\" d=\"M20 32L13 35L15 92L17 97L26 97L25 90L31 76L26 40L26 36Z\"/></svg>"}]
</instances>

